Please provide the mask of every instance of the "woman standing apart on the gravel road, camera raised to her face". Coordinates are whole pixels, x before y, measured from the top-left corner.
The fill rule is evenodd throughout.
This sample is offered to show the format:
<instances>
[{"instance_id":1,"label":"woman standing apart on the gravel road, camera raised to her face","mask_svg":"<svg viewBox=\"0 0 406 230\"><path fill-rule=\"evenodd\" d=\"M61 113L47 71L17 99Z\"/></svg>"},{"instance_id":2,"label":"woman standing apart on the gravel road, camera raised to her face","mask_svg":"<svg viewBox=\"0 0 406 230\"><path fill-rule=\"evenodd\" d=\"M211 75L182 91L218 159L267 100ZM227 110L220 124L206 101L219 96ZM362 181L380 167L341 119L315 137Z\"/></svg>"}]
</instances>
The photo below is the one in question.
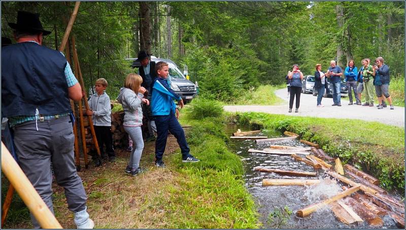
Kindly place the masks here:
<instances>
[{"instance_id":1,"label":"woman standing apart on the gravel road, camera raised to her face","mask_svg":"<svg viewBox=\"0 0 406 230\"><path fill-rule=\"evenodd\" d=\"M299 66L294 64L292 72L288 72L288 78L290 80L290 98L289 98L289 113L292 112L293 100L296 96L296 109L295 113L299 112L300 94L301 94L301 80L303 80L303 74L299 70Z\"/></svg>"}]
</instances>

